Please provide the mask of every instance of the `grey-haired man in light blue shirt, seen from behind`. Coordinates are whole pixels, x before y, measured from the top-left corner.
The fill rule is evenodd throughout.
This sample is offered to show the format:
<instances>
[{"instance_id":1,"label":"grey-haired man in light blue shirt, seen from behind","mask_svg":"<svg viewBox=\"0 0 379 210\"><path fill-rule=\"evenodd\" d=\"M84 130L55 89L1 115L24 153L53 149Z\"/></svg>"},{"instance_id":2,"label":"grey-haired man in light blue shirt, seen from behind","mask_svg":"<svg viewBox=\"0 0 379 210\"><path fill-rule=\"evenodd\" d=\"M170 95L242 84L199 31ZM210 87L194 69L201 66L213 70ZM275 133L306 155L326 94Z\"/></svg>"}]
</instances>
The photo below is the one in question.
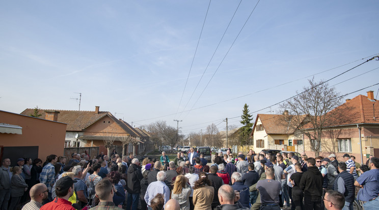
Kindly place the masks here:
<instances>
[{"instance_id":1,"label":"grey-haired man in light blue shirt, seen from behind","mask_svg":"<svg viewBox=\"0 0 379 210\"><path fill-rule=\"evenodd\" d=\"M151 172L150 172L151 173ZM146 193L145 193L145 201L146 203L150 206L151 205L151 200L155 197L156 194L161 193L164 195L165 199L165 204L167 201L170 199L170 189L167 187L165 184L165 179L166 179L166 172L165 171L159 171L156 174L156 182L152 182L149 184L147 187Z\"/></svg>"}]
</instances>

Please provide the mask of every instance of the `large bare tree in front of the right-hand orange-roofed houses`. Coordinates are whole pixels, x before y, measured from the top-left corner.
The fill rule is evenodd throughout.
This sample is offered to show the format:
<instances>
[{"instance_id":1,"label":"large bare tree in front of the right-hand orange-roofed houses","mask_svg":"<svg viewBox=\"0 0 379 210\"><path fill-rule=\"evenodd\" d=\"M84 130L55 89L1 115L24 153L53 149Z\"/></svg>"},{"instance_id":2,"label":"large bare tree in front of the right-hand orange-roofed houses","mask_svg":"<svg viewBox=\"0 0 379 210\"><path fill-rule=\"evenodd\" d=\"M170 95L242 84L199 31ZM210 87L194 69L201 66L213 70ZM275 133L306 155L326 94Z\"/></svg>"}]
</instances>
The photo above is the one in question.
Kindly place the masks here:
<instances>
[{"instance_id":1,"label":"large bare tree in front of the right-hand orange-roofed houses","mask_svg":"<svg viewBox=\"0 0 379 210\"><path fill-rule=\"evenodd\" d=\"M312 79L309 80L309 85L281 104L281 109L288 110L288 114L283 115L283 121L293 129L294 134L308 137L311 151L317 157L324 128L333 125L342 114L340 111L332 111L341 104L341 97L328 83L314 82Z\"/></svg>"}]
</instances>

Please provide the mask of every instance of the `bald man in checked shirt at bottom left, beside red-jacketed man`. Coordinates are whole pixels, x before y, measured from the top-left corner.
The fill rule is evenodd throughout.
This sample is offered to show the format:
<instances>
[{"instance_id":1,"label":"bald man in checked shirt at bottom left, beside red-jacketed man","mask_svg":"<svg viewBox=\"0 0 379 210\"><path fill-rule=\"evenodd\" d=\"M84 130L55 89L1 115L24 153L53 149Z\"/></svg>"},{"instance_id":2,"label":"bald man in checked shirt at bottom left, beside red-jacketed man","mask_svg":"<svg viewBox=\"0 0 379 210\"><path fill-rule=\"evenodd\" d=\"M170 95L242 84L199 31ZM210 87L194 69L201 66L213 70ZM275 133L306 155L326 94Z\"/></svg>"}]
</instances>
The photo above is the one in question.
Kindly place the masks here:
<instances>
[{"instance_id":1,"label":"bald man in checked shirt at bottom left, beside red-jacketed man","mask_svg":"<svg viewBox=\"0 0 379 210\"><path fill-rule=\"evenodd\" d=\"M37 210L42 206L42 201L47 199L48 189L45 184L39 183L30 189L31 201L26 203L21 210Z\"/></svg>"}]
</instances>

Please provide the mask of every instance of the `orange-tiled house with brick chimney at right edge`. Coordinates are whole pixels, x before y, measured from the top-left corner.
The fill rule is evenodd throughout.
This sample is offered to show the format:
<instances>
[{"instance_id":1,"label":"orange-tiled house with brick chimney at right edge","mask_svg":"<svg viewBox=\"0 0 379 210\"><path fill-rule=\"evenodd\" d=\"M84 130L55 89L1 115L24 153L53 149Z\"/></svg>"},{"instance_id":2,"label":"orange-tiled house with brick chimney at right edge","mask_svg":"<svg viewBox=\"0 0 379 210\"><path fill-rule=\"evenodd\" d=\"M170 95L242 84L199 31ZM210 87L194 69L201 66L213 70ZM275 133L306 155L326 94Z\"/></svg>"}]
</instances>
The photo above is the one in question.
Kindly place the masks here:
<instances>
[{"instance_id":1,"label":"orange-tiled house with brick chimney at right edge","mask_svg":"<svg viewBox=\"0 0 379 210\"><path fill-rule=\"evenodd\" d=\"M343 154L347 153L354 155L360 163L366 163L369 155L379 157L379 101L374 99L373 91L368 91L367 96L346 99L345 103L328 114L336 112L343 114L323 127L319 155L328 157L334 153L337 160L342 161ZM314 157L307 137L304 143L306 154Z\"/></svg>"}]
</instances>

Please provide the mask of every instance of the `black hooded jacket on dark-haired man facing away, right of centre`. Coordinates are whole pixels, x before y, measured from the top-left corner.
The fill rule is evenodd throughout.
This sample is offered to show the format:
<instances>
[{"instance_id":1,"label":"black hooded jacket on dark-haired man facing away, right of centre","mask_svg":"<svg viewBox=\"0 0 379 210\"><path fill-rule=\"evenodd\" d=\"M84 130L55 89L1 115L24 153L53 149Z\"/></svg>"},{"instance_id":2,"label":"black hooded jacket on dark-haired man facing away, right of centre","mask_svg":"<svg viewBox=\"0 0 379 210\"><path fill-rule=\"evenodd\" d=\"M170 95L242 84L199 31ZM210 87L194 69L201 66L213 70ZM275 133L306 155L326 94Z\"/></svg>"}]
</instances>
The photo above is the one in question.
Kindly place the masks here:
<instances>
[{"instance_id":1,"label":"black hooded jacket on dark-haired man facing away, right of centre","mask_svg":"<svg viewBox=\"0 0 379 210\"><path fill-rule=\"evenodd\" d=\"M304 197L321 197L323 177L316 166L309 166L300 180L300 189Z\"/></svg>"}]
</instances>

